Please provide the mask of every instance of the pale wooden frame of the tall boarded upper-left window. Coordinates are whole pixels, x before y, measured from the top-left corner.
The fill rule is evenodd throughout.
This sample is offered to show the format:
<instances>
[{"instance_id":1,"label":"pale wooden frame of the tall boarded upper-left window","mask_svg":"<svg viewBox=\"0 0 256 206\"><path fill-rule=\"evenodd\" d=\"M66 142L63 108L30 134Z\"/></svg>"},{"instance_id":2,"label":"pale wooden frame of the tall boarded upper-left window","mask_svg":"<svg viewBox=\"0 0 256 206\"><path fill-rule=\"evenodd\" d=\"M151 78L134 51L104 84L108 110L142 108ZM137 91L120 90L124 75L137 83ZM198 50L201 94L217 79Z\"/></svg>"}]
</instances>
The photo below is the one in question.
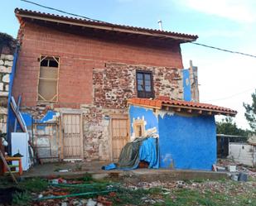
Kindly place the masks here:
<instances>
[{"instance_id":1,"label":"pale wooden frame of the tall boarded upper-left window","mask_svg":"<svg viewBox=\"0 0 256 206\"><path fill-rule=\"evenodd\" d=\"M55 68L58 69L58 71L57 71L57 78L56 78L56 95L53 97L53 98L56 97L56 100L53 100L53 98L51 98L51 100L46 100L39 93L40 79L50 79L50 80L53 80L51 78L41 78L41 61L42 60L46 60L46 58L52 58L52 59L56 60L56 62L58 63L58 67L55 67ZM56 103L56 102L59 101L60 56L58 56L58 55L43 55L43 54L41 54L40 57L38 58L38 62L39 62L39 72L38 72L38 81L37 81L37 101L38 102L42 102L42 103ZM39 96L41 96L41 98L44 98L44 99L39 99Z\"/></svg>"}]
</instances>

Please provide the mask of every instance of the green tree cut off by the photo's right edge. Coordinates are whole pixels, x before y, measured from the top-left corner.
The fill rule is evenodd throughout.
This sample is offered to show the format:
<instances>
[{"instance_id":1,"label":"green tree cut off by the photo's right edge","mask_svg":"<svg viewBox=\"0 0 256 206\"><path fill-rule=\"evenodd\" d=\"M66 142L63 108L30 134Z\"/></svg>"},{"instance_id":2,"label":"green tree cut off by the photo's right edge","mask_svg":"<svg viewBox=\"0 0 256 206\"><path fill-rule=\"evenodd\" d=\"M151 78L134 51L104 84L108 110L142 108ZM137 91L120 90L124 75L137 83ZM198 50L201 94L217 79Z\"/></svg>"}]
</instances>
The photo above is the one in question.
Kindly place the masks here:
<instances>
[{"instance_id":1,"label":"green tree cut off by the photo's right edge","mask_svg":"<svg viewBox=\"0 0 256 206\"><path fill-rule=\"evenodd\" d=\"M253 103L244 103L245 113L249 126L256 132L256 89L255 93L252 93Z\"/></svg>"}]
</instances>

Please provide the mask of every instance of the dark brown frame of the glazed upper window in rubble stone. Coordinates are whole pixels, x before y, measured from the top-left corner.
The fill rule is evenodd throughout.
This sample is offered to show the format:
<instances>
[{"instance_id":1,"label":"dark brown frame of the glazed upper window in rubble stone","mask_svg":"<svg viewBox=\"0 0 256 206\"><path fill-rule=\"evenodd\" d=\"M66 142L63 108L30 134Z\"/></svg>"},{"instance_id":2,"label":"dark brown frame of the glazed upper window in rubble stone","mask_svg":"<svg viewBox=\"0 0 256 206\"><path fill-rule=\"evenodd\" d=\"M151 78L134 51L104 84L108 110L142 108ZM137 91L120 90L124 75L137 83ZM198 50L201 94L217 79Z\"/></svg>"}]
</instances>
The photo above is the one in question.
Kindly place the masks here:
<instances>
[{"instance_id":1,"label":"dark brown frame of the glazed upper window in rubble stone","mask_svg":"<svg viewBox=\"0 0 256 206\"><path fill-rule=\"evenodd\" d=\"M139 91L138 90L138 74L142 74L143 75L143 85L144 85L144 89L143 91ZM150 86L151 86L151 91L147 92L145 89L145 74L149 74L150 75ZM138 98L154 98L155 97L155 93L154 93L154 85L153 85L153 74L152 71L147 71L147 70L140 70L137 69L136 70L136 92L137 92L137 97ZM143 93L143 95L140 95L141 93ZM147 97L147 93L150 93L150 97Z\"/></svg>"}]
</instances>

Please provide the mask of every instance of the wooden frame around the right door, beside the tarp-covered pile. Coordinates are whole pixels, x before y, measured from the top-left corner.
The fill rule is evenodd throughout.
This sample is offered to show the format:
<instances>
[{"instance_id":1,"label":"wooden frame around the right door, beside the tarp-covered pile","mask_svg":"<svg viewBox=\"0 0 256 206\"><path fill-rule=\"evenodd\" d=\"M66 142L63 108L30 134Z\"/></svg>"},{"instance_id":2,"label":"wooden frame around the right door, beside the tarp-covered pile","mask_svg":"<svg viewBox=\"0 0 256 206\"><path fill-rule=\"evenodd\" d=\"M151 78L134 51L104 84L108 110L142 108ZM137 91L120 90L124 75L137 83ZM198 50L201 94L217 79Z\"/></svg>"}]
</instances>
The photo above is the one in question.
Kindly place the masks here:
<instances>
[{"instance_id":1,"label":"wooden frame around the right door, beside the tarp-covered pile","mask_svg":"<svg viewBox=\"0 0 256 206\"><path fill-rule=\"evenodd\" d=\"M110 146L110 150L109 150L109 156L110 156L110 160L114 161L114 155L113 155L113 144L112 144L112 140L113 140L113 132L112 132L112 126L113 126L113 120L114 119L126 119L127 120L127 131L128 131L128 140L130 141L130 118L128 113L114 113L114 114L110 114L110 123L109 123L109 134L110 134L110 138L109 138L109 146Z\"/></svg>"}]
</instances>

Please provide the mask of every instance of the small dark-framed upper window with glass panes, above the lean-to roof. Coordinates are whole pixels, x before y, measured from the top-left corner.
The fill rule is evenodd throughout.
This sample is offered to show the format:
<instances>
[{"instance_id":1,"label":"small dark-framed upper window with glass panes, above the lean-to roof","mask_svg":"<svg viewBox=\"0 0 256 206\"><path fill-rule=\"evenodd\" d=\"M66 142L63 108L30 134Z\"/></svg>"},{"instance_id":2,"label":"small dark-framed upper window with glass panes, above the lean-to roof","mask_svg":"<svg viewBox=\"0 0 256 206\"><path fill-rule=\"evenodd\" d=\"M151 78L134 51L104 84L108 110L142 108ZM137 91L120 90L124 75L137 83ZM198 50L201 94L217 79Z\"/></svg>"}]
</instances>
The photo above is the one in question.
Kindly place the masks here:
<instances>
[{"instance_id":1,"label":"small dark-framed upper window with glass panes, above the lean-to roof","mask_svg":"<svg viewBox=\"0 0 256 206\"><path fill-rule=\"evenodd\" d=\"M136 79L138 98L154 98L152 88L152 72L137 71Z\"/></svg>"}]
</instances>

